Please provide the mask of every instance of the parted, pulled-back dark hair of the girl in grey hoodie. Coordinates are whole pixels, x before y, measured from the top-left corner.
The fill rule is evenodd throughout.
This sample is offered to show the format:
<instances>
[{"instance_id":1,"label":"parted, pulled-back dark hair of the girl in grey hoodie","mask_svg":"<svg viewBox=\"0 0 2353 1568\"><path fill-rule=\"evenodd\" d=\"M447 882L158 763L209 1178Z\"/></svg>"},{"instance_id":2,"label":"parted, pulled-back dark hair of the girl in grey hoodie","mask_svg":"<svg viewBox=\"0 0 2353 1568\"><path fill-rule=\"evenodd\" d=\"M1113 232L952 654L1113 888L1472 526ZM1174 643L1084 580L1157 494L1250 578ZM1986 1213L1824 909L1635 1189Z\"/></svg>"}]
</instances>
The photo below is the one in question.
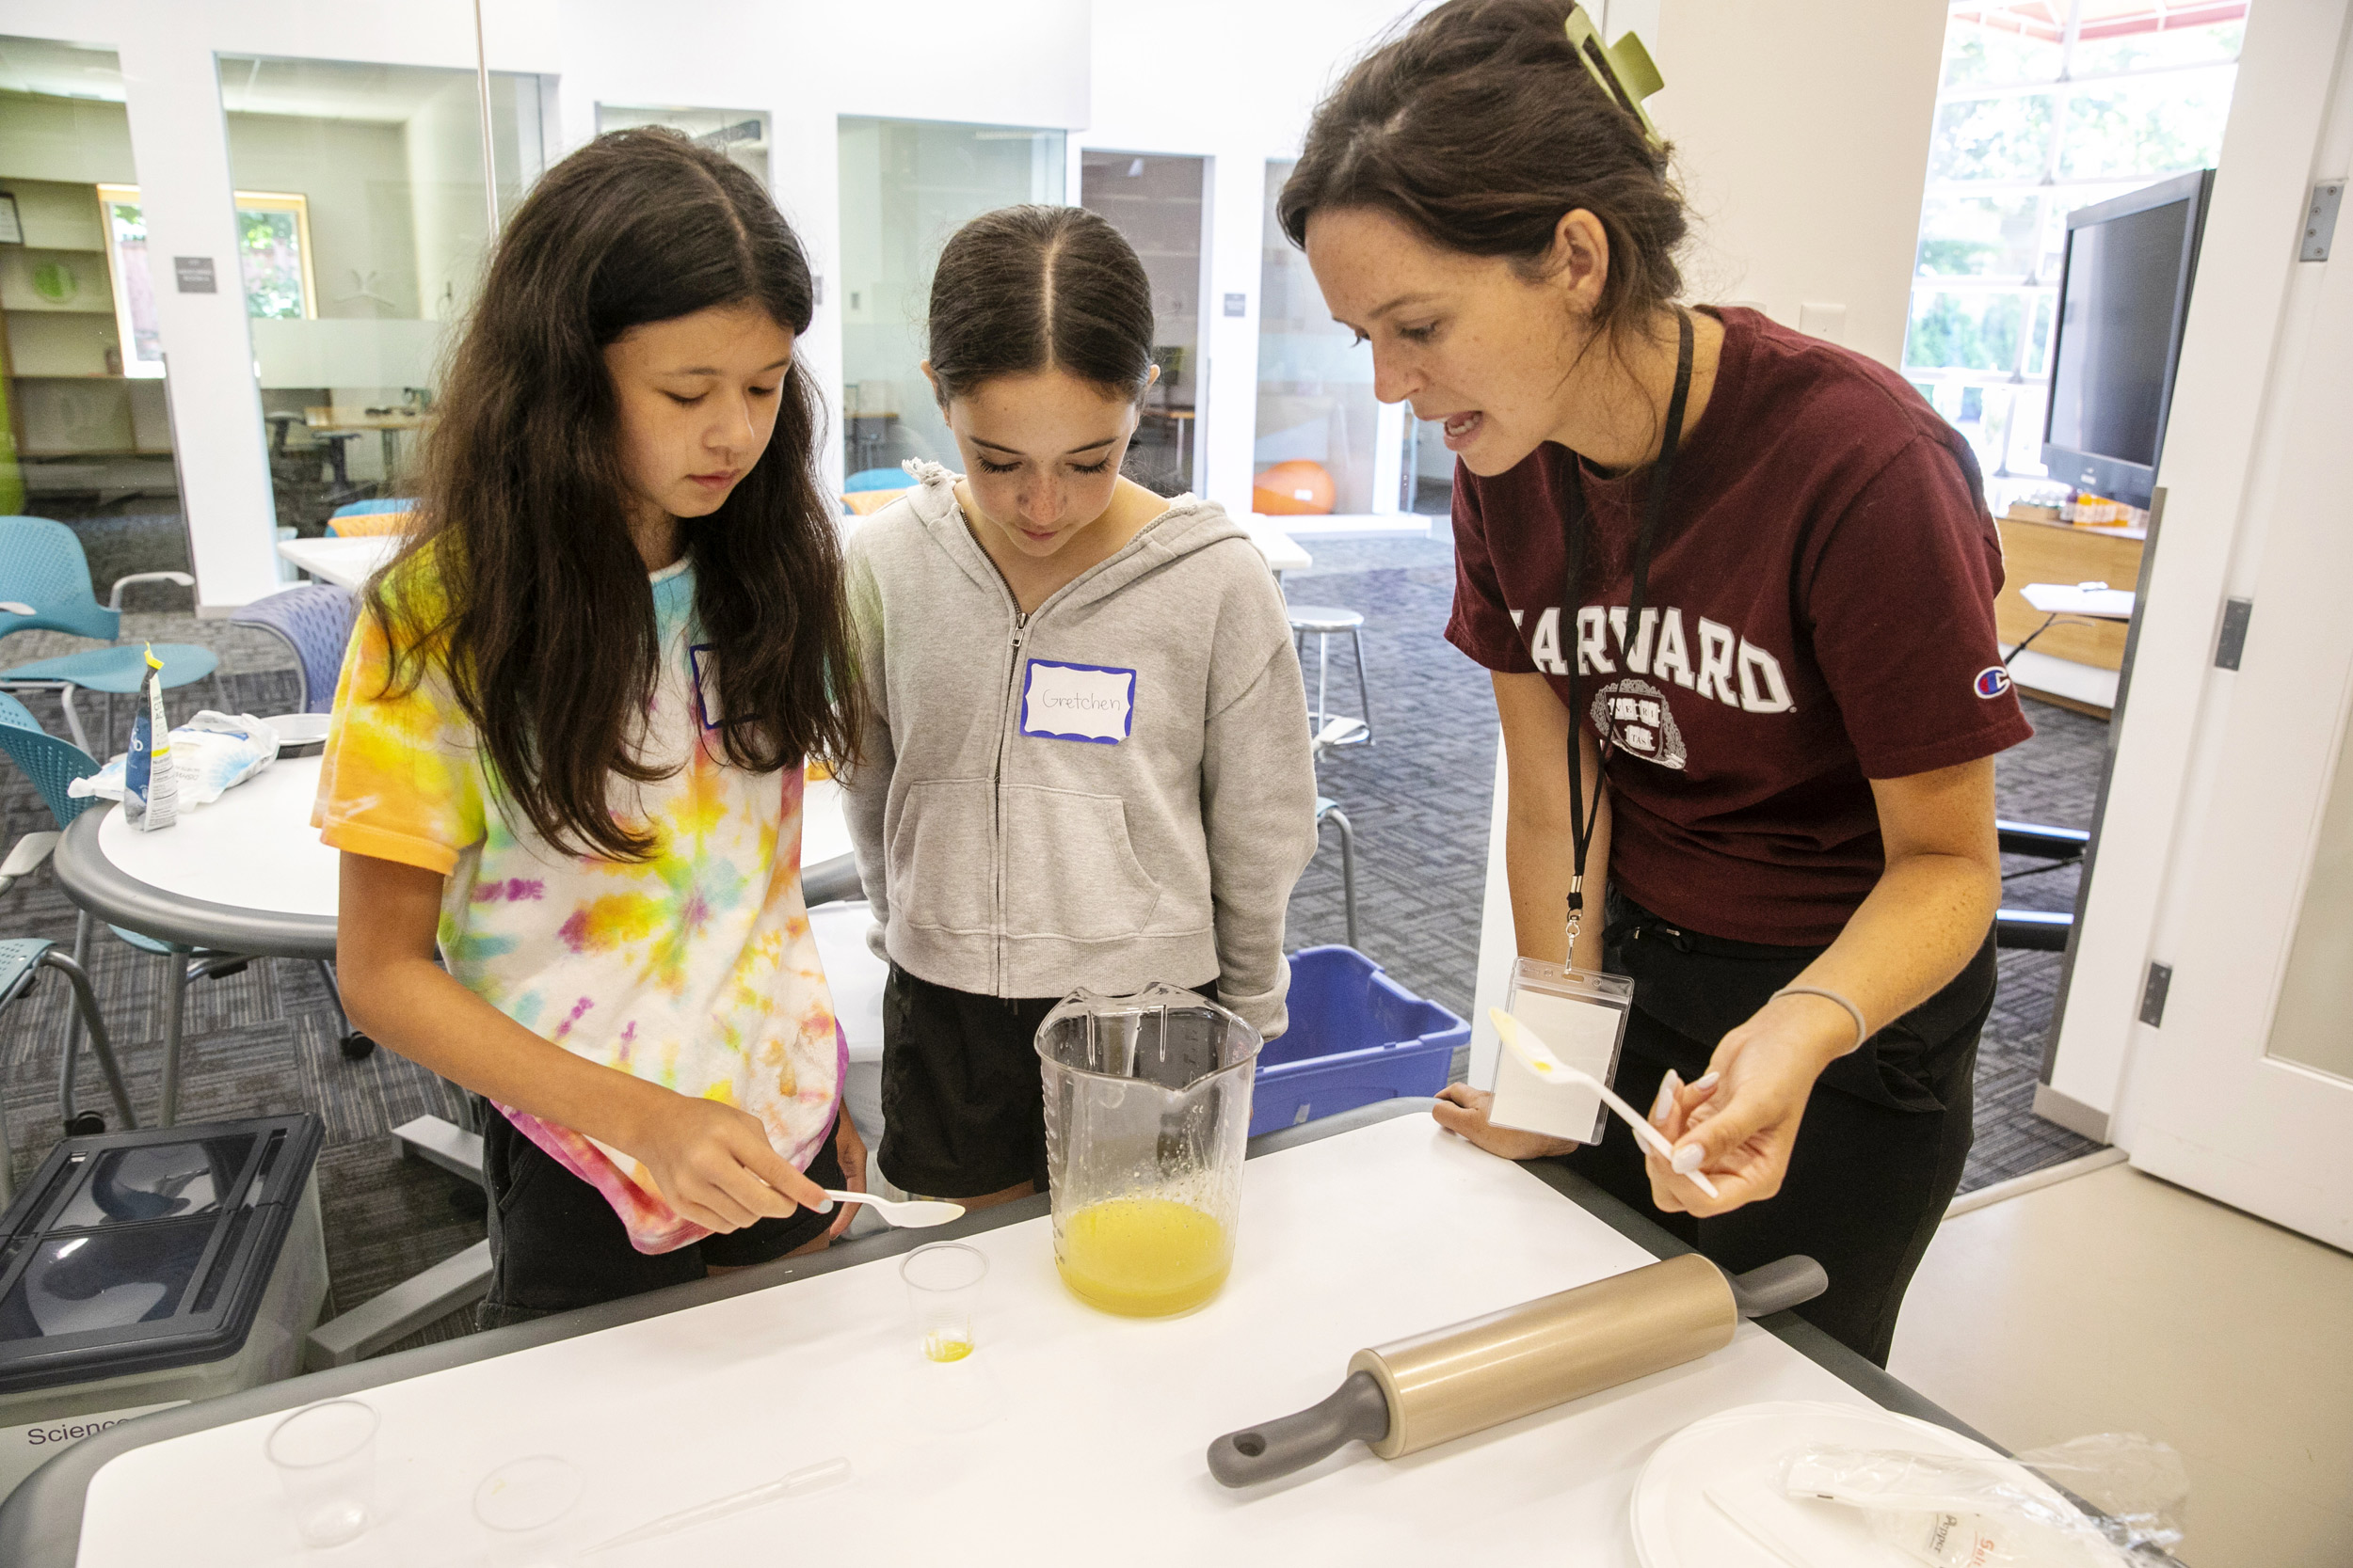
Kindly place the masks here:
<instances>
[{"instance_id":1,"label":"parted, pulled-back dark hair of the girl in grey hoodie","mask_svg":"<svg viewBox=\"0 0 2353 1568\"><path fill-rule=\"evenodd\" d=\"M941 402L1042 369L1144 397L1153 280L1120 230L1085 207L984 212L955 230L932 273L929 357Z\"/></svg>"}]
</instances>

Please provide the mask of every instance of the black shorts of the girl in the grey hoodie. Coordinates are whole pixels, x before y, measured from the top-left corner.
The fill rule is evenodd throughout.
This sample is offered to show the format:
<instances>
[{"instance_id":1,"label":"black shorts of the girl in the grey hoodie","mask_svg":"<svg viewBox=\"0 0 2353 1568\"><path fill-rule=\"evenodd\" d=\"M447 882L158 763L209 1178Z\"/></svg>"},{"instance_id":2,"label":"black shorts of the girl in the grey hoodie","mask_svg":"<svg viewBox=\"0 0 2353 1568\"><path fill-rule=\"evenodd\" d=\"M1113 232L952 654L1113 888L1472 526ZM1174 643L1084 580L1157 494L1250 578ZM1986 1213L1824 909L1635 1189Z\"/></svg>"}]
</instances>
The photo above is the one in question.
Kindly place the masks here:
<instances>
[{"instance_id":1,"label":"black shorts of the girl in the grey hoodie","mask_svg":"<svg viewBox=\"0 0 2353 1568\"><path fill-rule=\"evenodd\" d=\"M1217 1001L1217 980L1188 987ZM979 997L889 966L882 985L882 1147L906 1192L969 1199L1045 1192L1038 1025L1061 997Z\"/></svg>"}]
</instances>

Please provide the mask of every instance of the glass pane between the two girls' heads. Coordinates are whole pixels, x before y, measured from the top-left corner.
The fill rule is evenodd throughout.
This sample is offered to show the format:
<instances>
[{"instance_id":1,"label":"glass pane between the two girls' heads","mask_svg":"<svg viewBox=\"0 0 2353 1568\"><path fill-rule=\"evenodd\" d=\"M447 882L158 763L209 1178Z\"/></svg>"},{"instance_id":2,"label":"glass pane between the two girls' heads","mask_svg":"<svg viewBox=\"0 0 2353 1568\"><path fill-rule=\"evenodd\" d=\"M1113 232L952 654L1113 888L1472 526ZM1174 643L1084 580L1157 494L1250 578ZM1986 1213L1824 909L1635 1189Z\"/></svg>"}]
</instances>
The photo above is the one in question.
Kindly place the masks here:
<instances>
[{"instance_id":1,"label":"glass pane between the two girls' heads","mask_svg":"<svg viewBox=\"0 0 2353 1568\"><path fill-rule=\"evenodd\" d=\"M958 465L922 378L932 268L962 223L1064 200L1061 132L932 120L840 122L842 473L904 484L906 458ZM880 473L878 473L880 470Z\"/></svg>"}]
</instances>

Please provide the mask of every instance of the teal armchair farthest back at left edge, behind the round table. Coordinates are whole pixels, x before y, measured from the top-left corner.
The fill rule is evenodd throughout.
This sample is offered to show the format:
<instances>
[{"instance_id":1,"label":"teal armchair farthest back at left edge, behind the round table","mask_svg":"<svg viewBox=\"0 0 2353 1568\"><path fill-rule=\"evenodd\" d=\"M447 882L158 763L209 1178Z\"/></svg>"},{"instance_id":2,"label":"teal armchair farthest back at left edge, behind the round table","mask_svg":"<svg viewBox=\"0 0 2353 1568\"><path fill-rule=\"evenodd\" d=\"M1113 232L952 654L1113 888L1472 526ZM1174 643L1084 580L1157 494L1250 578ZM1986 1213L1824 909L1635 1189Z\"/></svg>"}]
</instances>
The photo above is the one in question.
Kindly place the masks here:
<instances>
[{"instance_id":1,"label":"teal armchair farthest back at left edge, behind the round table","mask_svg":"<svg viewBox=\"0 0 2353 1568\"><path fill-rule=\"evenodd\" d=\"M134 571L115 578L106 604L99 604L89 590L89 559L73 529L47 517L0 517L0 637L47 630L113 644L0 670L0 691L56 691L66 705L66 729L85 752L96 748L82 731L82 715L73 710L73 693L106 693L106 745L113 748L115 698L136 693L146 679L144 651L120 642L122 590L132 583L195 588L186 571ZM212 679L221 665L212 649L188 642L155 644L155 658L162 661L165 691ZM219 708L219 679L212 701Z\"/></svg>"}]
</instances>

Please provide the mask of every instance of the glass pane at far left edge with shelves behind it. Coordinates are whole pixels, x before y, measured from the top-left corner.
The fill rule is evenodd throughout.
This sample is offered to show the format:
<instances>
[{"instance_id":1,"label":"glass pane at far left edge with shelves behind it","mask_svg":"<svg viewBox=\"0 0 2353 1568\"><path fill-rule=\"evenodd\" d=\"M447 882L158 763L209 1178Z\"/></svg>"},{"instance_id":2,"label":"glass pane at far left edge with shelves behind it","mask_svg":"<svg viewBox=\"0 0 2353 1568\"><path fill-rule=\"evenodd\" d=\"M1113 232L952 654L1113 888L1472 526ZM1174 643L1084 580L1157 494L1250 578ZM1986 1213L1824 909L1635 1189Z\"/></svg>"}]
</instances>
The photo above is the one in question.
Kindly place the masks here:
<instances>
[{"instance_id":1,"label":"glass pane at far left edge with shelves behind it","mask_svg":"<svg viewBox=\"0 0 2353 1568\"><path fill-rule=\"evenodd\" d=\"M113 49L0 38L0 515L73 527L101 592L188 569L136 190Z\"/></svg>"}]
</instances>

